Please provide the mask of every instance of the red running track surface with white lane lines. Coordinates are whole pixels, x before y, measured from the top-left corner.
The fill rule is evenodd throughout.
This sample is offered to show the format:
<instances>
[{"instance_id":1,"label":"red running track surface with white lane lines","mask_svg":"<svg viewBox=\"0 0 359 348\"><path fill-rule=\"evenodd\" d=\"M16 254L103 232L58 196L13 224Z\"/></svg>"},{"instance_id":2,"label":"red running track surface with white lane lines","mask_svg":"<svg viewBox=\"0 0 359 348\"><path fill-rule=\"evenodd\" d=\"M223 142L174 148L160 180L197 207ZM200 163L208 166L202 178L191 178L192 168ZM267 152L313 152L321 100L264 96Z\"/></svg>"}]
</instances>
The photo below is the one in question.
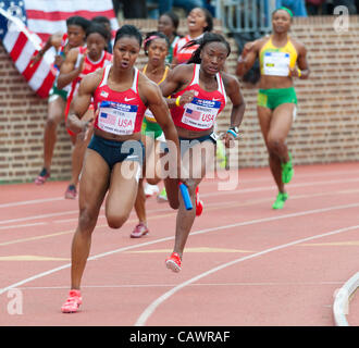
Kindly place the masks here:
<instances>
[{"instance_id":1,"label":"red running track surface with white lane lines","mask_svg":"<svg viewBox=\"0 0 359 348\"><path fill-rule=\"evenodd\" d=\"M129 238L134 212L114 231L102 210L74 314L60 308L77 201L63 198L63 182L2 185L0 325L332 326L335 291L358 272L358 174L359 163L296 166L281 211L267 167L239 170L234 190L206 179L180 274L164 266L176 215L168 204L148 199L140 239Z\"/></svg>"}]
</instances>

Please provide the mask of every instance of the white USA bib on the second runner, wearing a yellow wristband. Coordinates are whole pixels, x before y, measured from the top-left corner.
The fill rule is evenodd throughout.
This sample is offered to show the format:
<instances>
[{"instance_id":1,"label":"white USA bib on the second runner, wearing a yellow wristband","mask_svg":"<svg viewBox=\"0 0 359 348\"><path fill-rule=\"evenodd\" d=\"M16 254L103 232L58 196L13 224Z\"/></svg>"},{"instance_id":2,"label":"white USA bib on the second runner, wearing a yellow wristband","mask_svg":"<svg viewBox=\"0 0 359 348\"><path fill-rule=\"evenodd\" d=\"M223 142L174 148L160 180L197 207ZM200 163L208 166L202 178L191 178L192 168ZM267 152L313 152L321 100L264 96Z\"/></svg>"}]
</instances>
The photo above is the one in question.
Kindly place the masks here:
<instances>
[{"instance_id":1,"label":"white USA bib on the second runner, wearing a yellow wristband","mask_svg":"<svg viewBox=\"0 0 359 348\"><path fill-rule=\"evenodd\" d=\"M182 122L199 129L210 129L213 127L220 108L219 100L194 98L191 102L184 105Z\"/></svg>"}]
</instances>

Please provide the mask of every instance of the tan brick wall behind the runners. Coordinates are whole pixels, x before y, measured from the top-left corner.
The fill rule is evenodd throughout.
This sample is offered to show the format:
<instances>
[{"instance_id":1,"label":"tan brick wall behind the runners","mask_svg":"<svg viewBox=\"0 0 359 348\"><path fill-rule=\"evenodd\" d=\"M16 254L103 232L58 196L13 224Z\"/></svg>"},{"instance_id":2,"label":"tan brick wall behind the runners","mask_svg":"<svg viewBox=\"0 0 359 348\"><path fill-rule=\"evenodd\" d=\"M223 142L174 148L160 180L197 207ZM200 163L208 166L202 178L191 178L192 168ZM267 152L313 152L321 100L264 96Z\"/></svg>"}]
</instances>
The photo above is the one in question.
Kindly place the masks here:
<instances>
[{"instance_id":1,"label":"tan brick wall behind the runners","mask_svg":"<svg viewBox=\"0 0 359 348\"><path fill-rule=\"evenodd\" d=\"M347 162L359 160L359 16L350 16L347 32L334 30L333 16L295 18L292 35L308 50L311 76L296 80L297 119L288 136L295 164ZM131 20L143 32L153 30L157 21ZM216 22L215 30L223 33ZM122 23L121 23L122 24ZM185 21L181 22L182 34ZM234 73L238 57L234 39L227 61ZM138 67L146 61L141 53ZM47 101L39 99L14 67L0 45L0 183L29 182L42 165L44 125ZM257 88L243 85L247 103L231 165L259 167L268 165L268 154L260 134L256 99ZM227 105L219 119L220 132L227 128ZM51 167L52 179L69 179L71 173L71 141L62 123Z\"/></svg>"}]
</instances>

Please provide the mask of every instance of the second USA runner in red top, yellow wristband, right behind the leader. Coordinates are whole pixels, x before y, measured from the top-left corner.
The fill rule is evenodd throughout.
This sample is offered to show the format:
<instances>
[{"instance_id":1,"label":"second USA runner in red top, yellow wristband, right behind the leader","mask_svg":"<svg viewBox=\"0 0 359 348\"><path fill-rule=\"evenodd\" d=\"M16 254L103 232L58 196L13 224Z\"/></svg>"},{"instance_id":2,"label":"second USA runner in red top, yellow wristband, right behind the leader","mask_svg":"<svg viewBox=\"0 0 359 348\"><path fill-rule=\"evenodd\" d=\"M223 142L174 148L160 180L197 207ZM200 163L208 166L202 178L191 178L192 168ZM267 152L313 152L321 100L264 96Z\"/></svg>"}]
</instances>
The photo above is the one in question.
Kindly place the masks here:
<instances>
[{"instance_id":1,"label":"second USA runner in red top, yellow wristband, right behind the leader","mask_svg":"<svg viewBox=\"0 0 359 348\"><path fill-rule=\"evenodd\" d=\"M226 58L231 53L228 42L219 34L206 33L199 41L193 44L198 45L198 48L189 62L171 71L160 86L164 97L171 96L168 104L178 132L183 167L190 176L188 191L193 206L196 207L186 210L183 201L178 200L178 181L171 177L164 179L171 207L178 208L174 249L165 260L166 266L174 272L181 271L188 234L195 216L202 210L198 185L214 161L216 135L213 128L216 117L225 107L226 97L233 104L231 125L225 135L226 147L234 145L233 140L237 137L245 112L237 78L223 72Z\"/></svg>"}]
</instances>

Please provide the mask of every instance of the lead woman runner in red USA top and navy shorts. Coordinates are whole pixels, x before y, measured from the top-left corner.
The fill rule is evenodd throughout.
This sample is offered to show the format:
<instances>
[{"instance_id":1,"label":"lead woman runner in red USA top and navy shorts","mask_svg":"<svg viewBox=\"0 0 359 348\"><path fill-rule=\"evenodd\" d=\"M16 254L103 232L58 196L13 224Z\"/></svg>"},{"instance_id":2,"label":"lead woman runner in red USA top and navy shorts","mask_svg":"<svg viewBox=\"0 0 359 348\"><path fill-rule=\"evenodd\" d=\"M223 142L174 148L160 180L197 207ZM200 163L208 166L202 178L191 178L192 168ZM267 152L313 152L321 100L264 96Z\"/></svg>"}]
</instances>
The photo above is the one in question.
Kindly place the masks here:
<instances>
[{"instance_id":1,"label":"lead woman runner in red USA top and navy shorts","mask_svg":"<svg viewBox=\"0 0 359 348\"><path fill-rule=\"evenodd\" d=\"M113 64L84 77L70 111L67 126L86 138L79 182L78 225L72 243L71 290L62 312L76 312L82 303L81 279L90 251L91 235L106 198L104 214L111 228L120 228L134 207L144 160L140 128L149 108L165 138L175 144L175 170L181 169L176 128L160 88L134 65L141 47L141 34L133 25L116 32ZM95 120L83 120L91 99ZM99 297L101 295L99 294Z\"/></svg>"}]
</instances>

